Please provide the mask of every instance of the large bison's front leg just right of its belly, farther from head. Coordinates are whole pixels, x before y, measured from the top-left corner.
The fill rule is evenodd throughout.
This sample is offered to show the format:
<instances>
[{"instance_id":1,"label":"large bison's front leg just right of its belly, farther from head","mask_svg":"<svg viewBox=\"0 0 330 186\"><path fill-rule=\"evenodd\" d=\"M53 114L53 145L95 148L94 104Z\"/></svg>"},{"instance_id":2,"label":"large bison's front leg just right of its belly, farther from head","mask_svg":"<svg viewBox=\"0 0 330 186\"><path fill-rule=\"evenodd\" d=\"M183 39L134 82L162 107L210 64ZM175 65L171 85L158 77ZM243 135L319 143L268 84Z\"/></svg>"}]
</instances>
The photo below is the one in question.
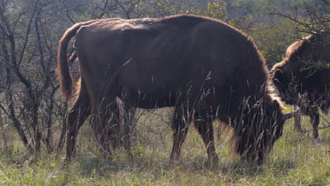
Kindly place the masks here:
<instances>
[{"instance_id":1,"label":"large bison's front leg just right of its belly, farther from head","mask_svg":"<svg viewBox=\"0 0 330 186\"><path fill-rule=\"evenodd\" d=\"M173 130L173 146L171 151L170 162L178 161L181 154L181 147L188 133L190 116L185 113L183 106L176 106L172 118Z\"/></svg>"}]
</instances>

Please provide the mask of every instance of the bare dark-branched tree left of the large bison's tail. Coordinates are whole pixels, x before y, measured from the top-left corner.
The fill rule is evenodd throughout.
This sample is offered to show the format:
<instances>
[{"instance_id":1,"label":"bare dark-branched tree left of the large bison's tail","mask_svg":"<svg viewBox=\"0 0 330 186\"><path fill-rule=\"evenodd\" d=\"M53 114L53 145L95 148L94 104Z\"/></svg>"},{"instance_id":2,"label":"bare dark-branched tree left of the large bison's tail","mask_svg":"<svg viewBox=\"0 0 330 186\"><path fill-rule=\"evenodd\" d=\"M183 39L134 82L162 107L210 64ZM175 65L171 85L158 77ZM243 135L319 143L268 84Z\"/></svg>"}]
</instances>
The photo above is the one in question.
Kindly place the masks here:
<instances>
[{"instance_id":1,"label":"bare dark-branched tree left of the large bison's tail","mask_svg":"<svg viewBox=\"0 0 330 186\"><path fill-rule=\"evenodd\" d=\"M56 64L56 4L47 0L7 0L0 3L0 63L6 70L0 107L30 154L44 142L52 151ZM55 39L56 38L56 39Z\"/></svg>"}]
</instances>

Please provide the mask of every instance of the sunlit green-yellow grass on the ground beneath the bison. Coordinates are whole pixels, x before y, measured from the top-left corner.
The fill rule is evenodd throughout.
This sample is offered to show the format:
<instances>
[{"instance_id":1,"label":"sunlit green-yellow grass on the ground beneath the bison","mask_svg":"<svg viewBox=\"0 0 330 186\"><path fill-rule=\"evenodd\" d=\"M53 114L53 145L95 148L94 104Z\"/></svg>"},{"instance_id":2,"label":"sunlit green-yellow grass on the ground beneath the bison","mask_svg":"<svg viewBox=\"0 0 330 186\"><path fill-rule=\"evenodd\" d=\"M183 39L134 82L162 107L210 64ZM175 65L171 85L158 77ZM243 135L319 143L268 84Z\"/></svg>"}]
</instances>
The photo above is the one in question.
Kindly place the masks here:
<instances>
[{"instance_id":1,"label":"sunlit green-yellow grass on the ground beneath the bison","mask_svg":"<svg viewBox=\"0 0 330 186\"><path fill-rule=\"evenodd\" d=\"M219 163L209 166L202 139L190 128L181 161L170 166L172 136L164 118L140 118L133 161L123 149L114 152L113 161L102 158L87 125L80 130L78 156L67 164L52 154L29 163L24 148L13 143L11 153L0 156L0 185L330 185L329 128L319 130L321 140L314 142L288 120L262 166L229 155L226 134L216 138ZM302 125L310 128L309 118L303 117Z\"/></svg>"}]
</instances>

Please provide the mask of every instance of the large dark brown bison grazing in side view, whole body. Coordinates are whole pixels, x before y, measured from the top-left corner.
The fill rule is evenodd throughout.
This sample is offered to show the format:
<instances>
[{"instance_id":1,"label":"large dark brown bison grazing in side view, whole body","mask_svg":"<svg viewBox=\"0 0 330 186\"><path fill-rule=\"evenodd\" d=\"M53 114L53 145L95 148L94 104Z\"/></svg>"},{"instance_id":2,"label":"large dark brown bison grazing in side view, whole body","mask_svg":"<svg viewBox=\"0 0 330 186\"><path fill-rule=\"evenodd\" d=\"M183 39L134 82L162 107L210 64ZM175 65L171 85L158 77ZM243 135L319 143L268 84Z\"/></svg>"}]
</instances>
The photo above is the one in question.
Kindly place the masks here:
<instances>
[{"instance_id":1,"label":"large dark brown bison grazing in side view, whole body","mask_svg":"<svg viewBox=\"0 0 330 186\"><path fill-rule=\"evenodd\" d=\"M218 159L212 122L219 119L233 128L234 150L243 159L262 162L293 115L283 114L271 97L269 72L252 39L218 20L181 15L73 25L60 41L58 56L67 99L73 86L67 46L73 36L81 77L68 112L67 158L87 116L97 139L102 128L112 129L108 117L116 97L125 108L174 107L171 161L178 160L190 123L209 160Z\"/></svg>"}]
</instances>

